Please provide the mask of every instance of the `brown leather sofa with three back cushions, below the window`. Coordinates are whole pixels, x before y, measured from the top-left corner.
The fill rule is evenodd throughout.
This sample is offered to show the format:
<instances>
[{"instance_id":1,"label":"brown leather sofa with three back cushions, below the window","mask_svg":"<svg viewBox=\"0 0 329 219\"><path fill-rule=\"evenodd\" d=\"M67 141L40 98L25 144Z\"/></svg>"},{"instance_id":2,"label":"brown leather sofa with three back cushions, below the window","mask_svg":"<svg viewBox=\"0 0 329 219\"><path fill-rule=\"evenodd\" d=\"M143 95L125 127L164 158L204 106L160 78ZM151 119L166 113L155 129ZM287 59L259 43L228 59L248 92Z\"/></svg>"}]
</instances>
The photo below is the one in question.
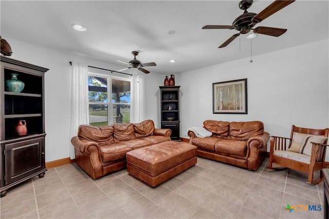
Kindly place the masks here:
<instances>
[{"instance_id":1,"label":"brown leather sofa with three back cushions, below the window","mask_svg":"<svg viewBox=\"0 0 329 219\"><path fill-rule=\"evenodd\" d=\"M171 141L170 135L170 129L154 128L152 120L100 127L80 125L71 143L76 164L96 179L126 168L126 152Z\"/></svg>"}]
</instances>

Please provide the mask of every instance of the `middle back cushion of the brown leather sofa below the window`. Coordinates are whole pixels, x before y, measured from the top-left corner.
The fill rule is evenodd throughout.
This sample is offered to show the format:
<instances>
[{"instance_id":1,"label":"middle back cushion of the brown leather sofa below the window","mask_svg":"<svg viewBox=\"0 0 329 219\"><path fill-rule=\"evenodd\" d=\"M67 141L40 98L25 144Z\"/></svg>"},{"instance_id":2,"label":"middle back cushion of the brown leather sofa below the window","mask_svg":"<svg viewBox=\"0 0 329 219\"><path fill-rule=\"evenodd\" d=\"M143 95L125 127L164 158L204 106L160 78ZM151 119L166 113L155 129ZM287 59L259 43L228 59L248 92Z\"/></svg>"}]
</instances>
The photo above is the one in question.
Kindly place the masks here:
<instances>
[{"instance_id":1,"label":"middle back cushion of the brown leather sofa below the window","mask_svg":"<svg viewBox=\"0 0 329 219\"><path fill-rule=\"evenodd\" d=\"M121 141L129 141L136 139L135 136L135 129L134 124L132 123L116 123L113 124L114 132L114 141L121 142Z\"/></svg>"}]
</instances>

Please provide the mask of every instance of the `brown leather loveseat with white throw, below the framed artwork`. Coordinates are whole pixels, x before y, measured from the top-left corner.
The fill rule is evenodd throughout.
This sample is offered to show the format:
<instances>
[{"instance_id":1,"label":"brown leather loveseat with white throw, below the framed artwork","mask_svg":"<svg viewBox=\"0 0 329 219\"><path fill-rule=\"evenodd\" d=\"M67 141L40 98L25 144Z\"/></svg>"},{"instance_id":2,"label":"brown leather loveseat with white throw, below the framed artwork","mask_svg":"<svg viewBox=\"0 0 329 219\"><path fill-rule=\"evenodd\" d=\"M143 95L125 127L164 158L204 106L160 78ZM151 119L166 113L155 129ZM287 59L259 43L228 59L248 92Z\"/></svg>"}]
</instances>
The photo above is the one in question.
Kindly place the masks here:
<instances>
[{"instance_id":1,"label":"brown leather loveseat with white throw, below the framed artwork","mask_svg":"<svg viewBox=\"0 0 329 219\"><path fill-rule=\"evenodd\" d=\"M264 124L207 120L204 128L211 136L197 137L189 130L189 143L197 146L197 155L226 164L257 170L266 157L269 134Z\"/></svg>"}]
</instances>

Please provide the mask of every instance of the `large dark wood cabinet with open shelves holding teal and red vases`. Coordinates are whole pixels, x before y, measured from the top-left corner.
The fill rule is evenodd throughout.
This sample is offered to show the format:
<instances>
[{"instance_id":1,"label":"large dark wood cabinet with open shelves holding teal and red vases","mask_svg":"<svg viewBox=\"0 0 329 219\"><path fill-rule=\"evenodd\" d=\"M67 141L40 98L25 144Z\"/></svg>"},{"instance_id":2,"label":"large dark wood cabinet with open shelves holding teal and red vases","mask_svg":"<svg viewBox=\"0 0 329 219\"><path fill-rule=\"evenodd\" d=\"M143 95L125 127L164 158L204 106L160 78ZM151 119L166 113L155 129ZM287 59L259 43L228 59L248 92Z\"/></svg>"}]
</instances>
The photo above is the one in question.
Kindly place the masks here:
<instances>
[{"instance_id":1,"label":"large dark wood cabinet with open shelves holding teal and red vases","mask_svg":"<svg viewBox=\"0 0 329 219\"><path fill-rule=\"evenodd\" d=\"M44 73L49 69L1 56L0 73L0 176L1 197L7 190L29 178L45 174ZM17 74L25 86L21 92L8 91L5 82ZM15 127L24 121L27 133Z\"/></svg>"}]
</instances>

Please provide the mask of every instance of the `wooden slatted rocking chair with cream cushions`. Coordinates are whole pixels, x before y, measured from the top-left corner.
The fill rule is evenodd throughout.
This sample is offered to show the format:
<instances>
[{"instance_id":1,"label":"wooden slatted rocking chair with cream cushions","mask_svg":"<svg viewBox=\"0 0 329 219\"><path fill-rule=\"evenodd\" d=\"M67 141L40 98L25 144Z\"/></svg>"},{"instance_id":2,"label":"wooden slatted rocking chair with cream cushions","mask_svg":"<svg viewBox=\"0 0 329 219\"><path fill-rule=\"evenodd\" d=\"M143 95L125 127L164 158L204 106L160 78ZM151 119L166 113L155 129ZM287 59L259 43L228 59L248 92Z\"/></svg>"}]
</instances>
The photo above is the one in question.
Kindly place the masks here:
<instances>
[{"instance_id":1,"label":"wooden slatted rocking chair with cream cushions","mask_svg":"<svg viewBox=\"0 0 329 219\"><path fill-rule=\"evenodd\" d=\"M307 183L318 184L323 181L322 169L325 168L325 151L329 129L308 129L291 127L290 138L270 136L268 169L275 168L273 163L285 168L308 174ZM320 170L320 177L313 180L314 171Z\"/></svg>"}]
</instances>

